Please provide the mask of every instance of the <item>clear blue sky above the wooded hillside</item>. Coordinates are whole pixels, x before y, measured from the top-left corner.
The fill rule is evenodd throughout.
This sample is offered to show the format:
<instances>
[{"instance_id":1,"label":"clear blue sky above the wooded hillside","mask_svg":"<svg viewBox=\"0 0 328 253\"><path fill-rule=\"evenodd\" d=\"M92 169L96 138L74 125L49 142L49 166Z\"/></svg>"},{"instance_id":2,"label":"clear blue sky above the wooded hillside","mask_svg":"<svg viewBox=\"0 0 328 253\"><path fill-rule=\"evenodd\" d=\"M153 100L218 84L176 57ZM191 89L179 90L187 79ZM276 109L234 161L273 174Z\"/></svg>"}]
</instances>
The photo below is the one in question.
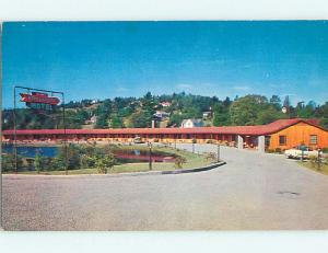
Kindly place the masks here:
<instances>
[{"instance_id":1,"label":"clear blue sky above the wooded hillside","mask_svg":"<svg viewBox=\"0 0 328 253\"><path fill-rule=\"evenodd\" d=\"M3 107L14 84L67 101L190 92L328 100L328 22L3 24Z\"/></svg>"}]
</instances>

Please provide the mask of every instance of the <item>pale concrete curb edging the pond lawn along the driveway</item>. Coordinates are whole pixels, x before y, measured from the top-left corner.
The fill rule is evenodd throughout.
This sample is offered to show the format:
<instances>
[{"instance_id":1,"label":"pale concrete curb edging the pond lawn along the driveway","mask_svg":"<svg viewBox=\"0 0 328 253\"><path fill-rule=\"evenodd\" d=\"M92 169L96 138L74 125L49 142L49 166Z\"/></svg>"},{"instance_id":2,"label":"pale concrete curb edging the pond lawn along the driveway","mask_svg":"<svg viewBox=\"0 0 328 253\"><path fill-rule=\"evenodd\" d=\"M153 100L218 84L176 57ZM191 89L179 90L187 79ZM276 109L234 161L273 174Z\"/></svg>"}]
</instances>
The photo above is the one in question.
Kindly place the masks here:
<instances>
[{"instance_id":1,"label":"pale concrete curb edging the pond lawn along the driveway","mask_svg":"<svg viewBox=\"0 0 328 253\"><path fill-rule=\"evenodd\" d=\"M117 173L117 174L80 174L80 175L24 175L24 174L4 174L2 176L9 177L12 180L16 180L19 177L43 177L47 179L73 179L73 177L121 177L121 176L140 176L140 175L168 175L168 174L184 174L184 173L192 173L192 172L201 172L213 170L214 168L222 166L226 164L226 162L218 162L207 166L201 168L191 168L191 169L180 169L174 171L145 171L145 172L126 172L126 173Z\"/></svg>"}]
</instances>

